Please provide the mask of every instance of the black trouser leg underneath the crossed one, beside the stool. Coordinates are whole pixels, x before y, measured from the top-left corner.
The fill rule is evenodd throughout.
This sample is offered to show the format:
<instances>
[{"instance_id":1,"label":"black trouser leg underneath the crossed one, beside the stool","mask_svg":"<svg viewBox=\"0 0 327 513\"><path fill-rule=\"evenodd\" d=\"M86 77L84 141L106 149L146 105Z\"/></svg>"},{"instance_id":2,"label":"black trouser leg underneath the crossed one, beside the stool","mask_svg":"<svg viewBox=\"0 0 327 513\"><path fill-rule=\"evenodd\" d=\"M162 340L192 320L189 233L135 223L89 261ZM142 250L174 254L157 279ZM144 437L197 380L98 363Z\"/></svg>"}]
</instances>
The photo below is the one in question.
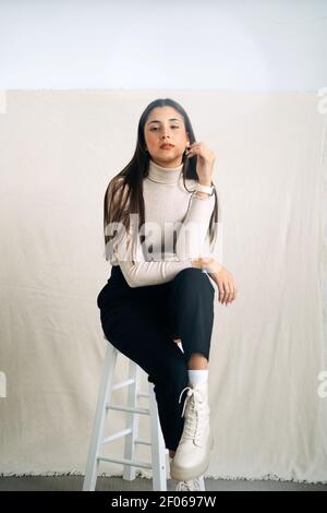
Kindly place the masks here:
<instances>
[{"instance_id":1,"label":"black trouser leg underneath the crossed one, beside the stool","mask_svg":"<svg viewBox=\"0 0 327 513\"><path fill-rule=\"evenodd\" d=\"M143 300L137 301L135 294L137 287L130 288L130 291L133 290L132 294L124 289L122 295L118 282L114 286L118 287L117 296L111 288L107 297L105 291L98 298L104 333L108 341L135 361L148 374L148 381L155 384L154 391L166 448L175 451L184 426L183 402L179 403L179 397L189 384L184 354L162 330L158 318L153 313L149 314L145 290L142 290ZM148 290L152 301L154 291L154 289L150 293Z\"/></svg>"}]
</instances>

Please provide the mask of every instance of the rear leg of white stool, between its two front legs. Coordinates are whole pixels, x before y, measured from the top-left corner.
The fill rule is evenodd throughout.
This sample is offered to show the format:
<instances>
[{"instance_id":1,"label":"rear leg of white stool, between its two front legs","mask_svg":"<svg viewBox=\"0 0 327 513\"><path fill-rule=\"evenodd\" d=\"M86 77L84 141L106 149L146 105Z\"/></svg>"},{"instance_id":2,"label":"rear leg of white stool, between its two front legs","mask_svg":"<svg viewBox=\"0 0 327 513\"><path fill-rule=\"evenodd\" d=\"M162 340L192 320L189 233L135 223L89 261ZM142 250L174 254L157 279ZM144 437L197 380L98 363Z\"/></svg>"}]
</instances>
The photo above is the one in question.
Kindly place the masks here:
<instances>
[{"instance_id":1,"label":"rear leg of white stool, between its two front legs","mask_svg":"<svg viewBox=\"0 0 327 513\"><path fill-rule=\"evenodd\" d=\"M130 360L129 365L129 378L134 380L133 384L129 385L128 391L128 406L133 408L137 407L137 392L140 389L140 368L133 360ZM126 413L126 428L131 429L131 432L125 436L124 440L124 458L134 460L135 455L135 440L138 437L138 415L135 413ZM123 479L129 481L135 479L136 468L131 465L123 466Z\"/></svg>"}]
</instances>

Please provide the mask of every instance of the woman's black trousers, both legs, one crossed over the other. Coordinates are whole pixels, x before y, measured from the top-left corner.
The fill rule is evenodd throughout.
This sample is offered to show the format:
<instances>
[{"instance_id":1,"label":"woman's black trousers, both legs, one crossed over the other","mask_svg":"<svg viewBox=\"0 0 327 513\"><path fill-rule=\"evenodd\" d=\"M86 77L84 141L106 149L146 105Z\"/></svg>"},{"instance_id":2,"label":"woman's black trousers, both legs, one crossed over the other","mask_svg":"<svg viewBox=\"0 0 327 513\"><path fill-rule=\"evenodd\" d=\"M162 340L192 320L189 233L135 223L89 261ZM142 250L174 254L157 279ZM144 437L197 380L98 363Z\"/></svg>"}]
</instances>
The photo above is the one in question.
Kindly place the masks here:
<instances>
[{"instance_id":1,"label":"woman's black trousers, both legs, one crossed over the other","mask_svg":"<svg viewBox=\"0 0 327 513\"><path fill-rule=\"evenodd\" d=\"M155 384L166 448L173 451L183 432L179 396L189 384L189 359L201 353L209 360L214 297L209 276L196 267L165 284L130 287L120 266L112 266L97 298L108 341ZM173 338L181 338L183 351Z\"/></svg>"}]
</instances>

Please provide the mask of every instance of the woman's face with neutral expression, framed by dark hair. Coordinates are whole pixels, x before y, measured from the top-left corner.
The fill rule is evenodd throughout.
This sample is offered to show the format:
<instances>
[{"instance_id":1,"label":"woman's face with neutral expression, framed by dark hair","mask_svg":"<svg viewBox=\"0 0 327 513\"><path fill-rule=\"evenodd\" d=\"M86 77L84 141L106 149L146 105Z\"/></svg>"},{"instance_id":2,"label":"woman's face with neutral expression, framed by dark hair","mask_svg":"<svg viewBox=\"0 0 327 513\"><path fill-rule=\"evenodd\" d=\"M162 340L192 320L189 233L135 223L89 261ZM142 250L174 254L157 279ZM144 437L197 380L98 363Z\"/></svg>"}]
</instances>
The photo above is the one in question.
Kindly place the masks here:
<instances>
[{"instance_id":1,"label":"woman's face with neutral expression, framed by dark hair","mask_svg":"<svg viewBox=\"0 0 327 513\"><path fill-rule=\"evenodd\" d=\"M173 107L156 107L148 115L144 139L150 158L164 167L182 164L182 155L190 142L184 120ZM172 144L169 148L161 144Z\"/></svg>"}]
</instances>

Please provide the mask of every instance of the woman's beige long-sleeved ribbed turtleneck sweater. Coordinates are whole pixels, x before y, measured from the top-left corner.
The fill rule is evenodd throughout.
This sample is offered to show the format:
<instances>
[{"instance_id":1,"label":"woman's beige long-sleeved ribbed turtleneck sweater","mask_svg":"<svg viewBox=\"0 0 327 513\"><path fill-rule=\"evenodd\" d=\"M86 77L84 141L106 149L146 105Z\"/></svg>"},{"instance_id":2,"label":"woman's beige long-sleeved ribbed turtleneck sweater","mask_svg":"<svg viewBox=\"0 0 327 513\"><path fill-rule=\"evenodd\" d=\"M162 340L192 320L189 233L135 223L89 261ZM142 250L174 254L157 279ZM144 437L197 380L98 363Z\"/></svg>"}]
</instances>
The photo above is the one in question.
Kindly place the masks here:
<instances>
[{"instance_id":1,"label":"woman's beige long-sleeved ribbed turtleneck sweater","mask_svg":"<svg viewBox=\"0 0 327 513\"><path fill-rule=\"evenodd\" d=\"M215 195L195 195L196 181L192 179L185 180L192 192L186 191L182 167L183 164L167 168L149 160L148 176L143 181L144 251L136 237L136 246L126 253L124 238L119 244L113 244L113 251L109 254L111 265L120 265L130 287L170 282L183 269L192 267L192 259L211 254L208 227ZM130 234L135 234L133 227Z\"/></svg>"}]
</instances>

